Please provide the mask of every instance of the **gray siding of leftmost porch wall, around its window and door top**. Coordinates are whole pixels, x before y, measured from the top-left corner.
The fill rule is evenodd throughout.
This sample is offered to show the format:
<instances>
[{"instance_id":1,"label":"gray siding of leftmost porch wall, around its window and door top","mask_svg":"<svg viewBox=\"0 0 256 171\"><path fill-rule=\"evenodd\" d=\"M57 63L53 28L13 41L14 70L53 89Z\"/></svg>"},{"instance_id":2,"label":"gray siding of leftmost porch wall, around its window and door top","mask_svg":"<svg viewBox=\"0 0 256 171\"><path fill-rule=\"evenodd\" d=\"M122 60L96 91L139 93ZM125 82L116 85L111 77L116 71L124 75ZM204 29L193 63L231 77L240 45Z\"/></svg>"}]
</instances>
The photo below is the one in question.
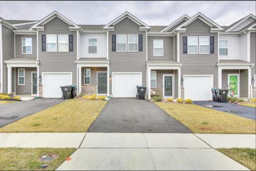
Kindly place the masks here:
<instances>
[{"instance_id":1,"label":"gray siding of leftmost porch wall, around its window and door top","mask_svg":"<svg viewBox=\"0 0 256 171\"><path fill-rule=\"evenodd\" d=\"M25 85L18 85L18 69L25 69ZM36 72L37 71L36 67L16 67L15 75L14 75L14 68L12 68L12 70L13 70L12 91L14 92L16 90L15 91L16 95L31 95L31 89L32 89L31 72Z\"/></svg>"}]
</instances>

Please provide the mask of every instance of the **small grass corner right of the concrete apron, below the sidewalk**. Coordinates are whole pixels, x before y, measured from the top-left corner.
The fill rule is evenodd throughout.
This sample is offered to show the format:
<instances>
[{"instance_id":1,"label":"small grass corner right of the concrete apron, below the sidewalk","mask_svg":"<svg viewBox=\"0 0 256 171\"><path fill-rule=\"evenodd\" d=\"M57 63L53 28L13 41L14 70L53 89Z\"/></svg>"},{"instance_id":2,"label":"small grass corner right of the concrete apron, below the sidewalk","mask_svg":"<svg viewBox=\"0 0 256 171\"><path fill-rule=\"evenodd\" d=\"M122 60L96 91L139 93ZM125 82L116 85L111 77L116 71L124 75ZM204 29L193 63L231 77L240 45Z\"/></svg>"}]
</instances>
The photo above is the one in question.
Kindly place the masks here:
<instances>
[{"instance_id":1,"label":"small grass corner right of the concrete apron, below the sidewalk","mask_svg":"<svg viewBox=\"0 0 256 171\"><path fill-rule=\"evenodd\" d=\"M217 149L250 170L256 170L256 149Z\"/></svg>"}]
</instances>

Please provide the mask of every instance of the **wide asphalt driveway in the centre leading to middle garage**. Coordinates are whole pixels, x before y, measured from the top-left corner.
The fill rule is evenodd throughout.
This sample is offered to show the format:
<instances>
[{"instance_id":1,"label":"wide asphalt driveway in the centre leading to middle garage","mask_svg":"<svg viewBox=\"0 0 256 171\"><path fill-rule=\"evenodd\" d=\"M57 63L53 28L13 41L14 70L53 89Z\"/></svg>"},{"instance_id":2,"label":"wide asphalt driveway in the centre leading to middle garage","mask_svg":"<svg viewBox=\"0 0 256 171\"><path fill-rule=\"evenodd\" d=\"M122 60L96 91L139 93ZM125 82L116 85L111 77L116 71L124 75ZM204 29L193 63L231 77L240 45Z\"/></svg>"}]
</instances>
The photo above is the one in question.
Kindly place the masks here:
<instances>
[{"instance_id":1,"label":"wide asphalt driveway in the centre leading to middle garage","mask_svg":"<svg viewBox=\"0 0 256 171\"><path fill-rule=\"evenodd\" d=\"M112 98L88 132L98 133L191 133L152 102Z\"/></svg>"}]
</instances>

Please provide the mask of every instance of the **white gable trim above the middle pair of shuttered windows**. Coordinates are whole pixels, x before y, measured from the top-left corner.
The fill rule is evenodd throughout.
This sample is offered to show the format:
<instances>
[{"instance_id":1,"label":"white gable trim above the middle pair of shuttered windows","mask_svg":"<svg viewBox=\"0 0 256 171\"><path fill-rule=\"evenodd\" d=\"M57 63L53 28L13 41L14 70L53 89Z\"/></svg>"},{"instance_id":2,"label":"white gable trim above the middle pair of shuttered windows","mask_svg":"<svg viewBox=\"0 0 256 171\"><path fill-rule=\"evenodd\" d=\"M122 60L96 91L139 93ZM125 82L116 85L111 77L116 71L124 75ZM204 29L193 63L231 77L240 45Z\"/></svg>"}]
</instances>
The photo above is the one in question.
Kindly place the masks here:
<instances>
[{"instance_id":1,"label":"white gable trim above the middle pair of shuttered windows","mask_svg":"<svg viewBox=\"0 0 256 171\"><path fill-rule=\"evenodd\" d=\"M134 21L135 23L137 23L137 25L139 26L143 26L140 27L140 29L150 29L150 26L146 25L146 23L144 23L143 21L141 21L140 19L138 19L137 17L135 17L134 15L132 15L130 12L126 11L123 14L119 15L117 18L115 18L114 20L112 20L111 22L109 22L107 25L105 25L103 27L103 29L114 29L113 27L111 27L112 25L116 25L118 22L120 22L121 20L123 20L124 18L129 18L132 21Z\"/></svg>"}]
</instances>

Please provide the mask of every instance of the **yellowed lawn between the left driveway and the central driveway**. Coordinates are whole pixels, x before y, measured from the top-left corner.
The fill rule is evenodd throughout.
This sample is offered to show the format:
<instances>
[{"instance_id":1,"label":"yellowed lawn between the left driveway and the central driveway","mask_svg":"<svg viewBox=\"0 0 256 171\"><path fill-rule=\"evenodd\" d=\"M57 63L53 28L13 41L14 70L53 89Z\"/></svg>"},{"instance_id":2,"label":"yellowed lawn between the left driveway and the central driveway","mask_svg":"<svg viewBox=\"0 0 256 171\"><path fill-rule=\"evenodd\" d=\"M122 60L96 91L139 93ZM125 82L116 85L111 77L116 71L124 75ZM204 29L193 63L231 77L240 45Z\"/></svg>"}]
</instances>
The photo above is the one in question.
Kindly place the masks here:
<instances>
[{"instance_id":1,"label":"yellowed lawn between the left driveway and the central driveway","mask_svg":"<svg viewBox=\"0 0 256 171\"><path fill-rule=\"evenodd\" d=\"M72 99L0 128L0 132L86 132L106 101Z\"/></svg>"}]
</instances>

